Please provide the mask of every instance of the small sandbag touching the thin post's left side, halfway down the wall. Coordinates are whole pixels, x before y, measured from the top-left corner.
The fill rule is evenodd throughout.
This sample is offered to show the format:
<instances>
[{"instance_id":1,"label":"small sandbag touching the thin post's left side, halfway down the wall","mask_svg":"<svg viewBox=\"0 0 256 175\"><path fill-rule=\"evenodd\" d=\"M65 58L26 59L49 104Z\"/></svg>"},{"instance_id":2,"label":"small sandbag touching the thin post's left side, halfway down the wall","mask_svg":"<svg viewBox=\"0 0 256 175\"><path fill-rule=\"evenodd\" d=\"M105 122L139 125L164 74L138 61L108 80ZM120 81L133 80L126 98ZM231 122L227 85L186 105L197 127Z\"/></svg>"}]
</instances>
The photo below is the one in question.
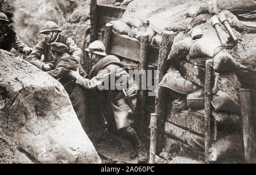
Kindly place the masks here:
<instances>
[{"instance_id":1,"label":"small sandbag touching the thin post's left side, halfway down the wall","mask_svg":"<svg viewBox=\"0 0 256 175\"><path fill-rule=\"evenodd\" d=\"M204 92L200 90L196 91L195 93L188 94L187 106L191 110L204 109Z\"/></svg>"}]
</instances>

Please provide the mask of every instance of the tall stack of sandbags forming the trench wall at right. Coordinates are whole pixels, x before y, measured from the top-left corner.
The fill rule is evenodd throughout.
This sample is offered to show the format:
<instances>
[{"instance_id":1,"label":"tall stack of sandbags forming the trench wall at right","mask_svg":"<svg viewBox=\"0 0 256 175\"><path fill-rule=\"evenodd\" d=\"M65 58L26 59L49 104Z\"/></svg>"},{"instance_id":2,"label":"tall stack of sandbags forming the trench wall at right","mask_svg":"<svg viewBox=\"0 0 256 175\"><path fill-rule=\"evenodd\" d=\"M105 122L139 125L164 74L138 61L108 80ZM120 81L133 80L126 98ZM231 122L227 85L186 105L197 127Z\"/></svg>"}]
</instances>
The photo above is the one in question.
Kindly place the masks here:
<instances>
[{"instance_id":1,"label":"tall stack of sandbags forming the trench wall at right","mask_svg":"<svg viewBox=\"0 0 256 175\"><path fill-rule=\"evenodd\" d=\"M235 28L233 31L238 38L246 35L238 32L246 31L246 28L236 16L230 15L229 11L224 11L224 13L231 17L228 20L230 26ZM211 18L213 15L209 16ZM205 62L212 61L215 73L214 82L212 82L211 129L214 131L212 138L217 152L216 158L222 160L232 156L242 159L243 142L240 136L242 118L238 87L241 87L242 82L241 70L246 67L234 54L233 51L238 46L233 42L225 26L221 24L221 31L227 45L222 45L215 28L210 23L210 18L203 23L197 23L189 32L179 31L174 38L168 56L171 68L160 86L167 87L180 95L172 102L172 108L168 114L165 126L166 138L168 138L168 144L172 140L172 147L187 149L188 152L191 150L204 152ZM172 28L172 30L175 29ZM244 46L239 44L239 47ZM224 140L226 144L221 145ZM230 155L231 151L236 151L236 154ZM183 152L181 151L179 156L187 156L182 155Z\"/></svg>"}]
</instances>

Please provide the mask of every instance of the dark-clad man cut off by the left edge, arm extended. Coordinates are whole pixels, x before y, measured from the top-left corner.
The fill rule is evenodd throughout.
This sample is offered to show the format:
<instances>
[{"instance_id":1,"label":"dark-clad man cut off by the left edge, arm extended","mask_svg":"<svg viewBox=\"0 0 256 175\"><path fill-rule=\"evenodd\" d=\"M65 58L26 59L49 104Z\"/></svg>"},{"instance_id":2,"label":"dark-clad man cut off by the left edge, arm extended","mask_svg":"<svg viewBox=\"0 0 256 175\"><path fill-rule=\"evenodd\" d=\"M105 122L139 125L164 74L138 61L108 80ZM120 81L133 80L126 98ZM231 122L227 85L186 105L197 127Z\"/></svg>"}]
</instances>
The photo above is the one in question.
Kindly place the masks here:
<instances>
[{"instance_id":1,"label":"dark-clad man cut off by the left edge, arm extended","mask_svg":"<svg viewBox=\"0 0 256 175\"><path fill-rule=\"evenodd\" d=\"M9 24L10 21L7 16L3 12L0 12L0 49L10 52L14 48L19 53L29 55L32 52L32 48L20 40L13 26Z\"/></svg>"}]
</instances>

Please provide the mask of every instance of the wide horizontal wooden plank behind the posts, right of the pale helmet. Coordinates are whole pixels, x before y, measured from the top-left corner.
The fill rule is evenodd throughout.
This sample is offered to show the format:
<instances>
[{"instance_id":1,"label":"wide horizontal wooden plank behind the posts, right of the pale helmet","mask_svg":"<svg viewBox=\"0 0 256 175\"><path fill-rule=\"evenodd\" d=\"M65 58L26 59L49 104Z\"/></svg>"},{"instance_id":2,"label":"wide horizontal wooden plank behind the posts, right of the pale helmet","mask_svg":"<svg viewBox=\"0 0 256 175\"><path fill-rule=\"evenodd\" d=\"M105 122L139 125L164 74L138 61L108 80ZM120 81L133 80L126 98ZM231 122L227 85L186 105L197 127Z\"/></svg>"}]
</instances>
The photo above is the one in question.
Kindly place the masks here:
<instances>
[{"instance_id":1,"label":"wide horizontal wooden plank behind the posts, right of the pale helmet","mask_svg":"<svg viewBox=\"0 0 256 175\"><path fill-rule=\"evenodd\" d=\"M114 33L110 53L139 62L141 55L141 42L136 39L131 39L128 36ZM148 64L158 66L158 53L159 48L155 47L154 45L150 45L148 51Z\"/></svg>"}]
</instances>

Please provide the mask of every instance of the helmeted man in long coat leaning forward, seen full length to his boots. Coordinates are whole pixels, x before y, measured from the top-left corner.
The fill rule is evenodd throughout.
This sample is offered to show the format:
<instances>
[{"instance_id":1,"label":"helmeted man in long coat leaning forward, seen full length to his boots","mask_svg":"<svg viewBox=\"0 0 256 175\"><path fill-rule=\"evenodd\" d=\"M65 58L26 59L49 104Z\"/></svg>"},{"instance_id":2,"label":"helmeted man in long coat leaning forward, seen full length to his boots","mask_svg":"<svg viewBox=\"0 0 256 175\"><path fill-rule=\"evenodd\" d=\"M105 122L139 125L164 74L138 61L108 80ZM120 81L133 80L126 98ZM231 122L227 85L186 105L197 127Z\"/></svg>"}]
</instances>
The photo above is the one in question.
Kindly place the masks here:
<instances>
[{"instance_id":1,"label":"helmeted man in long coat leaning forward, seen full length to his boots","mask_svg":"<svg viewBox=\"0 0 256 175\"><path fill-rule=\"evenodd\" d=\"M97 87L102 87L102 84L115 85L115 90L101 90L102 88L98 88L98 90L108 93L106 95L108 99L104 99L104 101L109 103L112 109L117 130L122 135L127 136L135 148L131 159L138 156L138 162L145 163L148 159L146 149L137 131L131 127L135 120L134 111L137 103L138 86L132 78L129 78L129 74L118 57L113 55L106 56L105 46L101 41L94 41L86 51L89 52L89 57L91 57L92 62L95 64L92 72L90 72L89 79L82 77L79 71L71 71L71 76L75 78L77 84L86 90L97 90ZM111 77L114 77L115 80L113 81ZM129 88L126 88L126 90L121 88L127 86ZM103 105L104 101L100 101L100 105L108 106Z\"/></svg>"}]
</instances>

